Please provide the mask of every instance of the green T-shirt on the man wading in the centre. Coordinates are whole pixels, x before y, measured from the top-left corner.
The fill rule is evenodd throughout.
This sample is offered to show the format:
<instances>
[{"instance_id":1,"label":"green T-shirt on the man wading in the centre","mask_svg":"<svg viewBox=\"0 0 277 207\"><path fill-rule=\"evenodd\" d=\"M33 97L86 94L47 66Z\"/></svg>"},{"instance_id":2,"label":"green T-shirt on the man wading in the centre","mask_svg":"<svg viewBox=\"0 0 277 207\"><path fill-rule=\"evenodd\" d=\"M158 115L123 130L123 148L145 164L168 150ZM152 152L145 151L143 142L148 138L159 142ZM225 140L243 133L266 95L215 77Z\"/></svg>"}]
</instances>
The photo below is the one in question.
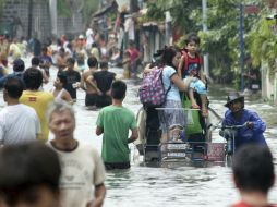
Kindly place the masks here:
<instances>
[{"instance_id":1,"label":"green T-shirt on the man wading in the centre","mask_svg":"<svg viewBox=\"0 0 277 207\"><path fill-rule=\"evenodd\" d=\"M136 127L135 115L124 107L108 106L100 110L96 125L104 131L104 162L129 162L129 130Z\"/></svg>"}]
</instances>

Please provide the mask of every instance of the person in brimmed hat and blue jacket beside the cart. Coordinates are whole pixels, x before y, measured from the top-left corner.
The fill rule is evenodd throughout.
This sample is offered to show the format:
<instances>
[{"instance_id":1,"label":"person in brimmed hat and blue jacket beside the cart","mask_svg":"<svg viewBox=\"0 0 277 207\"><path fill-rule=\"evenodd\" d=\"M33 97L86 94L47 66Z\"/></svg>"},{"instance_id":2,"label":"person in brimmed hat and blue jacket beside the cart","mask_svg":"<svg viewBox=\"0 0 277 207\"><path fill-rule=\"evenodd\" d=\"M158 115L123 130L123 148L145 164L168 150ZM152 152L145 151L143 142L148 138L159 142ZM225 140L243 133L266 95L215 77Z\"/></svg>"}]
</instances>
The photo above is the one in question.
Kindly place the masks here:
<instances>
[{"instance_id":1,"label":"person in brimmed hat and blue jacket beside the cart","mask_svg":"<svg viewBox=\"0 0 277 207\"><path fill-rule=\"evenodd\" d=\"M255 111L244 109L244 97L239 93L230 93L227 97L228 111L225 113L222 126L244 125L237 130L234 136L234 147L238 149L240 146L250 143L266 145L263 135L266 124L258 117Z\"/></svg>"}]
</instances>

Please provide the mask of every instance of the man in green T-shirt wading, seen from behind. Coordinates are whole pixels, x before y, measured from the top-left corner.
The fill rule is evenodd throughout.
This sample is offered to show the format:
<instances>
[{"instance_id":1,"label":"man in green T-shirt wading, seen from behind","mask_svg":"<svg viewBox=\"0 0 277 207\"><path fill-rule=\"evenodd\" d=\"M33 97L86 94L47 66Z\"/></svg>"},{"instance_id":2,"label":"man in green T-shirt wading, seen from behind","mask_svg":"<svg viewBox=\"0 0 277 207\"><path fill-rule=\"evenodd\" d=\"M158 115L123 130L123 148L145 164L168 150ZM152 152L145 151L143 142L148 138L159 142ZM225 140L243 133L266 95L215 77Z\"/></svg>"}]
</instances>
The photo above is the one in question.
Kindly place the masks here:
<instances>
[{"instance_id":1,"label":"man in green T-shirt wading, seen from behind","mask_svg":"<svg viewBox=\"0 0 277 207\"><path fill-rule=\"evenodd\" d=\"M124 82L112 83L112 105L100 110L96 122L96 135L104 134L101 157L107 170L130 168L128 144L138 136L134 113L122 106L125 92ZM132 131L130 137L129 130Z\"/></svg>"}]
</instances>

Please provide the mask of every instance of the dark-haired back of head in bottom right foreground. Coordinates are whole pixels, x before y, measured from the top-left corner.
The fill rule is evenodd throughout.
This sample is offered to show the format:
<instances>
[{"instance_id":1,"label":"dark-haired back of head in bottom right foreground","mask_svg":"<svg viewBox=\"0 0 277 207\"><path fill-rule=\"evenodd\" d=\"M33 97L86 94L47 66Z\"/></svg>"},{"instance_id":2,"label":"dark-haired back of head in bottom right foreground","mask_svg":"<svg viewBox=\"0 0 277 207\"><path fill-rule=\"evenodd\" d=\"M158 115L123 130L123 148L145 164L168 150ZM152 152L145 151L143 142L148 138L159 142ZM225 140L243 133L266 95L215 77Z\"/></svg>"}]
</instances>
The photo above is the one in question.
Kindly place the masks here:
<instances>
[{"instance_id":1,"label":"dark-haired back of head in bottom right foreground","mask_svg":"<svg viewBox=\"0 0 277 207\"><path fill-rule=\"evenodd\" d=\"M269 148L251 144L242 146L234 154L232 172L234 184L241 192L267 194L275 180Z\"/></svg>"}]
</instances>

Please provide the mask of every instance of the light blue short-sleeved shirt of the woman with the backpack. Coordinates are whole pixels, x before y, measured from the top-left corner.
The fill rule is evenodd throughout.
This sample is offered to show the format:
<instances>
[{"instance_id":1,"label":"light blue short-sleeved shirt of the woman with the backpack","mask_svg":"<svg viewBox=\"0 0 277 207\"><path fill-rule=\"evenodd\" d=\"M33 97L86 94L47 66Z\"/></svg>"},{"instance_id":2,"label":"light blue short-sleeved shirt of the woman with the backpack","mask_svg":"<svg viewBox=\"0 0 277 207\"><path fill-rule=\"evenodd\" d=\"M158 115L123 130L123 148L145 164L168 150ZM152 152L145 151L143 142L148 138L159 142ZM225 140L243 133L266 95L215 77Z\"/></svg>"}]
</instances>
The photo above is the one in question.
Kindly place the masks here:
<instances>
[{"instance_id":1,"label":"light blue short-sleeved shirt of the woman with the backpack","mask_svg":"<svg viewBox=\"0 0 277 207\"><path fill-rule=\"evenodd\" d=\"M174 75L176 73L177 71L172 66L165 66L162 70L162 83L164 83L165 92L167 92L171 85L171 88L167 94L167 100L181 101L179 89L173 83L171 83L171 80L170 80L170 77Z\"/></svg>"}]
</instances>

